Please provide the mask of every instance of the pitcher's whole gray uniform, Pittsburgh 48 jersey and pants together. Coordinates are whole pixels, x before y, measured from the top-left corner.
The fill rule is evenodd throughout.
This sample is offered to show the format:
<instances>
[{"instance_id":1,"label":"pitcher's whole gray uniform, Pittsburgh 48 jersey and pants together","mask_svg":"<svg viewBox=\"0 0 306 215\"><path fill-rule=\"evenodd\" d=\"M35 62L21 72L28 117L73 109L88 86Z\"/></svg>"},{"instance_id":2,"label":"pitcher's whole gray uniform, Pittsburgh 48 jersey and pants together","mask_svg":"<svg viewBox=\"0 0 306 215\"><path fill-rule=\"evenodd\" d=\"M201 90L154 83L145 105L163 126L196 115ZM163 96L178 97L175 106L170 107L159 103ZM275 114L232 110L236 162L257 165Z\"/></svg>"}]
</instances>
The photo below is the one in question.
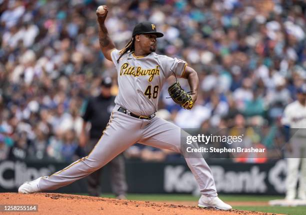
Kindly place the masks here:
<instances>
[{"instance_id":1,"label":"pitcher's whole gray uniform, Pittsburgh 48 jersey and pants together","mask_svg":"<svg viewBox=\"0 0 306 215\"><path fill-rule=\"evenodd\" d=\"M158 117L150 120L135 118L119 112L118 109L121 106L136 115L154 113L162 84L172 72L180 77L186 62L154 52L143 57L127 53L117 63L118 57L118 50L113 50L111 58L118 73L119 94L101 138L88 156L49 177L43 177L38 183L40 191L55 190L89 175L135 143L171 150L185 156L181 149L180 136L188 134L181 134L178 126ZM185 160L201 194L217 196L213 177L205 160L188 157Z\"/></svg>"}]
</instances>

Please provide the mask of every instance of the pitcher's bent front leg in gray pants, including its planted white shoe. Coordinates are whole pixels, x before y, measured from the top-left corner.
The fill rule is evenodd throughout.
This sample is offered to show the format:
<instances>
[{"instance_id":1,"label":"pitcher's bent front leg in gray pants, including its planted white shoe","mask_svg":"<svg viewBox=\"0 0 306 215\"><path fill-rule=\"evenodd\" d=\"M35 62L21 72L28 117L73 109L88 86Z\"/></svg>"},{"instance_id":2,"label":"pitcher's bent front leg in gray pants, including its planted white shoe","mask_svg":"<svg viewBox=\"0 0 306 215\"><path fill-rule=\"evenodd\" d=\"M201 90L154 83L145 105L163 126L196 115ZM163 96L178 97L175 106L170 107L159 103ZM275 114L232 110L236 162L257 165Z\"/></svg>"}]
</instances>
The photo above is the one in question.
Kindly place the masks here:
<instances>
[{"instance_id":1,"label":"pitcher's bent front leg in gray pants, including its planted white shoe","mask_svg":"<svg viewBox=\"0 0 306 215\"><path fill-rule=\"evenodd\" d=\"M183 135L188 134L184 132ZM184 147L181 147L180 144L179 127L163 119L155 118L144 127L143 136L139 143L180 152L184 156L202 194L198 200L198 207L225 211L231 209L230 205L225 204L217 197L211 170L202 156L197 155L190 158L188 154L184 153L184 149L182 149Z\"/></svg>"}]
</instances>

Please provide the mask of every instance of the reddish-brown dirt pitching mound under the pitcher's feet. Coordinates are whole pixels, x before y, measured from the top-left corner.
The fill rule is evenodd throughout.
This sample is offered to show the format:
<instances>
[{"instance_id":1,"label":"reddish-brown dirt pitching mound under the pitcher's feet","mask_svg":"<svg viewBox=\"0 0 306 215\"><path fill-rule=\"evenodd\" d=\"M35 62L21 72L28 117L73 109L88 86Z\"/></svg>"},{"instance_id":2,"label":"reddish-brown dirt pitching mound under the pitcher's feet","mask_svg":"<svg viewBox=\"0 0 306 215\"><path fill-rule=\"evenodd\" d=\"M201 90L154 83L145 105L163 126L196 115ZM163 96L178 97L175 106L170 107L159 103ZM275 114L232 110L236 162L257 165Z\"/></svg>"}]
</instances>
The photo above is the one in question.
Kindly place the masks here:
<instances>
[{"instance_id":1,"label":"reddish-brown dirt pitching mound under the pitcher's feet","mask_svg":"<svg viewBox=\"0 0 306 215\"><path fill-rule=\"evenodd\" d=\"M43 215L268 215L261 212L238 210L224 212L213 209L200 209L195 206L49 193L2 193L0 195L0 204L38 205L38 214ZM37 215L36 212L26 214Z\"/></svg>"}]
</instances>

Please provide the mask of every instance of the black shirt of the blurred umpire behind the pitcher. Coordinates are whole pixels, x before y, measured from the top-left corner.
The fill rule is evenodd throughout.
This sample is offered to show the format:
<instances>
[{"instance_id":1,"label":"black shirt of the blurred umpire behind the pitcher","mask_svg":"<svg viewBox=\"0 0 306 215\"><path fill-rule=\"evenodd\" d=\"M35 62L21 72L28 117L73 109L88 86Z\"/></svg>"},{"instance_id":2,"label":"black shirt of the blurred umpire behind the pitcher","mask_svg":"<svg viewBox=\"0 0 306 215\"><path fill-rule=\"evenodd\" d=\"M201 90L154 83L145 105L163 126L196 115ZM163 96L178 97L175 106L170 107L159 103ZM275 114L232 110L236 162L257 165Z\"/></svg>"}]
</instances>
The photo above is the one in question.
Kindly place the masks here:
<instances>
[{"instance_id":1,"label":"black shirt of the blurred umpire behind the pitcher","mask_svg":"<svg viewBox=\"0 0 306 215\"><path fill-rule=\"evenodd\" d=\"M102 131L105 129L114 107L114 99L115 96L105 98L101 94L97 97L89 98L83 120L85 122L91 122L91 139L98 139L101 137Z\"/></svg>"}]
</instances>

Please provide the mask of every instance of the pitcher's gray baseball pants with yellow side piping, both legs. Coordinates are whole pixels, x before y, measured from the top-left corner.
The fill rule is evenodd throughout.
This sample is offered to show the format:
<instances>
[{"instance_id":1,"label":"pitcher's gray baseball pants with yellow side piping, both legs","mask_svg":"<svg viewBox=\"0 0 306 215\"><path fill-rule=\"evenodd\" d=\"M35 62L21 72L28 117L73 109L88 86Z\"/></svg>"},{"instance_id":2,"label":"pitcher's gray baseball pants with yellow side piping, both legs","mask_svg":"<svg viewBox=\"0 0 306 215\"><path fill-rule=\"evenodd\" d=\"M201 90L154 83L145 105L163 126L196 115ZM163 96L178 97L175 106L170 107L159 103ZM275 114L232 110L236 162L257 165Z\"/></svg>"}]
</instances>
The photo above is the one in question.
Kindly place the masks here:
<instances>
[{"instance_id":1,"label":"pitcher's gray baseball pants with yellow side piping, both legs","mask_svg":"<svg viewBox=\"0 0 306 215\"><path fill-rule=\"evenodd\" d=\"M135 143L185 155L180 149L179 127L158 117L137 119L118 112L118 107L115 106L101 138L89 155L49 177L43 177L38 183L41 191L56 190L88 176ZM185 157L185 161L199 185L200 193L208 197L217 196L212 173L205 160Z\"/></svg>"}]
</instances>

